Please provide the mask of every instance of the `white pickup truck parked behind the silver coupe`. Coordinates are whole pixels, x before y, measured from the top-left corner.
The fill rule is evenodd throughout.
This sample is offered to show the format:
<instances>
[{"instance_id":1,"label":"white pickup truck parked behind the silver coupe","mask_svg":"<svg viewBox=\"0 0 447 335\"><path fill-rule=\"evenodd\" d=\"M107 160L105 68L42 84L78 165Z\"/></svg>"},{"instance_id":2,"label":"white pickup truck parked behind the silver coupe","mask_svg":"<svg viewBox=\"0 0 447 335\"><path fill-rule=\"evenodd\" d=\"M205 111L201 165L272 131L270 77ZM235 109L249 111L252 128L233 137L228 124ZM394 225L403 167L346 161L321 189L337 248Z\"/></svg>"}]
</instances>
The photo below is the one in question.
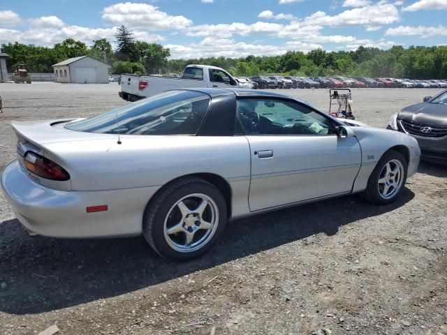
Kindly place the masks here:
<instances>
[{"instance_id":1,"label":"white pickup truck parked behind the silver coupe","mask_svg":"<svg viewBox=\"0 0 447 335\"><path fill-rule=\"evenodd\" d=\"M126 101L137 101L170 89L192 87L245 87L226 70L216 66L189 65L184 68L182 77L161 77L159 75L121 76L119 96Z\"/></svg>"}]
</instances>

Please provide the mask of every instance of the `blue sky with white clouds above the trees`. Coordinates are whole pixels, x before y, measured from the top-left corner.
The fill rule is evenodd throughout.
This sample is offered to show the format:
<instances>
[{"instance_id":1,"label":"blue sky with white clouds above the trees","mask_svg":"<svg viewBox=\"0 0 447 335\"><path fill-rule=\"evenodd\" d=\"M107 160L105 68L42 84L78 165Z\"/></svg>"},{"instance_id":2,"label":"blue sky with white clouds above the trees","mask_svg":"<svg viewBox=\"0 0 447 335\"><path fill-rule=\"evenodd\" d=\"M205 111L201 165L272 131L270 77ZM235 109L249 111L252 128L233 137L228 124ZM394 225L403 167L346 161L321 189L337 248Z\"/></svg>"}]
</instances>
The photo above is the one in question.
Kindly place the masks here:
<instances>
[{"instance_id":1,"label":"blue sky with white clouds above the trees","mask_svg":"<svg viewBox=\"0 0 447 335\"><path fill-rule=\"evenodd\" d=\"M0 0L0 43L113 42L124 24L173 58L446 45L447 0Z\"/></svg>"}]
</instances>

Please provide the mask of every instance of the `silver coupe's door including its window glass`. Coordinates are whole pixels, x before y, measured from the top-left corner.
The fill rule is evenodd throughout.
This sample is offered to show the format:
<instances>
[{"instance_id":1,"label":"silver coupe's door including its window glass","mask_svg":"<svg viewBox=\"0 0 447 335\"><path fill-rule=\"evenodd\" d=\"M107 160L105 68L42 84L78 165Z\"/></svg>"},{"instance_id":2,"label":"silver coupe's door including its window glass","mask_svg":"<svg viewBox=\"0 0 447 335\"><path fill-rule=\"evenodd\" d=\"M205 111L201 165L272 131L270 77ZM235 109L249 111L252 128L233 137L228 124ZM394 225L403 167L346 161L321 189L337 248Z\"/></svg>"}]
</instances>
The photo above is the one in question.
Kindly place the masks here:
<instances>
[{"instance_id":1,"label":"silver coupe's door including its window glass","mask_svg":"<svg viewBox=\"0 0 447 335\"><path fill-rule=\"evenodd\" d=\"M356 137L307 105L240 98L237 123L251 151L250 211L349 193L361 163Z\"/></svg>"}]
</instances>

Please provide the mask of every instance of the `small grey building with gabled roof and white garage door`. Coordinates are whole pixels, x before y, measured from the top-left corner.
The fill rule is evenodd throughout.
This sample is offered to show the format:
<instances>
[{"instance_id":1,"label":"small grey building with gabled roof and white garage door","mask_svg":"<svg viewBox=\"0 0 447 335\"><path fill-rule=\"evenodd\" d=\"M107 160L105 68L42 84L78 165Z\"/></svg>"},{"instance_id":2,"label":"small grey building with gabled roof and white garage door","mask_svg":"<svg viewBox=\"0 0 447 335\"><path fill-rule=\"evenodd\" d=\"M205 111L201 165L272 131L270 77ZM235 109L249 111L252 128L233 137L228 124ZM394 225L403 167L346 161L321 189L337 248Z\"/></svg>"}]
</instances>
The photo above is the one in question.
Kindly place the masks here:
<instances>
[{"instance_id":1,"label":"small grey building with gabled roof and white garage door","mask_svg":"<svg viewBox=\"0 0 447 335\"><path fill-rule=\"evenodd\" d=\"M97 61L90 56L81 56L66 59L54 64L54 75L56 82L75 82L83 84L108 84L110 65Z\"/></svg>"}]
</instances>

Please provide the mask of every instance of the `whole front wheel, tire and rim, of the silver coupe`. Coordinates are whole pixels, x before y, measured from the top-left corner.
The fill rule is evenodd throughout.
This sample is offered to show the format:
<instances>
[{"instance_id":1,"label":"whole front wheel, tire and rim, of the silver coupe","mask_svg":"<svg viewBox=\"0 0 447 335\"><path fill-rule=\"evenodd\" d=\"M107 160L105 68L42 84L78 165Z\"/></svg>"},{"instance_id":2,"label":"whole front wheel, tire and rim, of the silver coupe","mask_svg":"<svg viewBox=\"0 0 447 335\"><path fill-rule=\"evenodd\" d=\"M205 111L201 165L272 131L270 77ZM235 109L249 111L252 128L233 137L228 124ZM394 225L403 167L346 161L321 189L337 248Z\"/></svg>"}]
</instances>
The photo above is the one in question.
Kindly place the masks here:
<instances>
[{"instance_id":1,"label":"whole front wheel, tire and rim, of the silver coupe","mask_svg":"<svg viewBox=\"0 0 447 335\"><path fill-rule=\"evenodd\" d=\"M389 150L369 176L363 197L374 204L393 202L405 185L408 165L400 152Z\"/></svg>"}]
</instances>

